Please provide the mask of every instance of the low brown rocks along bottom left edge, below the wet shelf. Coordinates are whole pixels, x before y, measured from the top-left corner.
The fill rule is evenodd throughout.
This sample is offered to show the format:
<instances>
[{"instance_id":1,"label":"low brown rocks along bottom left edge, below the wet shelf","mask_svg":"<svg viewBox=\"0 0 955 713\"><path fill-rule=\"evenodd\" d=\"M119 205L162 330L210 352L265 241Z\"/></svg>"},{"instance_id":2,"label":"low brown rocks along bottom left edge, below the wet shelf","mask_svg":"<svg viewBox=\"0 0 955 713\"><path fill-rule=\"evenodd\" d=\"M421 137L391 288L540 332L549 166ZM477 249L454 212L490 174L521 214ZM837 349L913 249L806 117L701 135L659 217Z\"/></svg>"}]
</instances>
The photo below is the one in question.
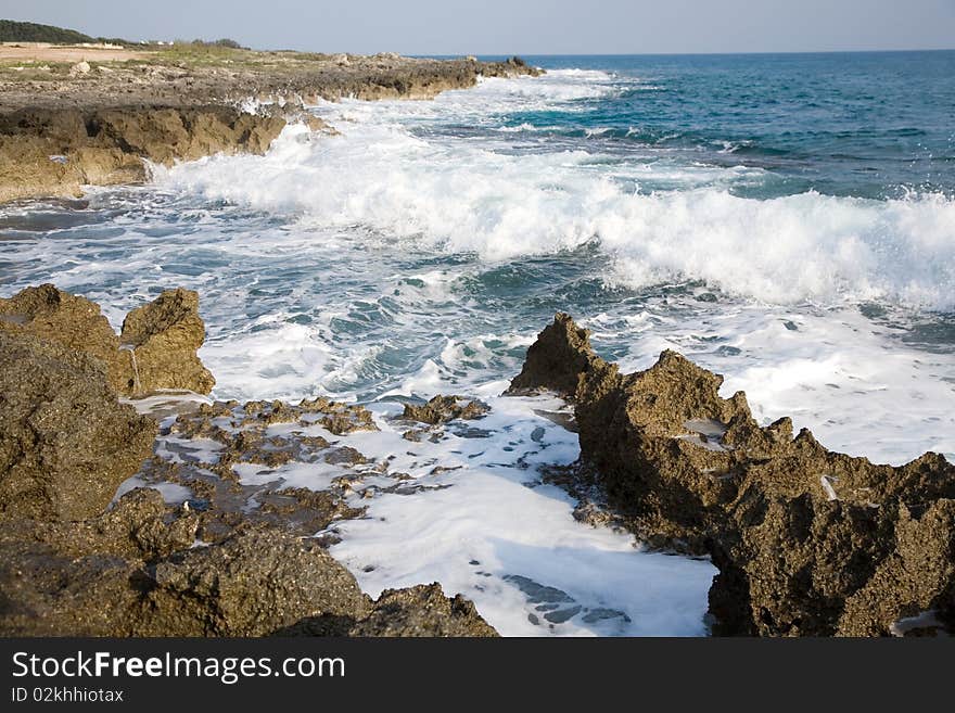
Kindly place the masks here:
<instances>
[{"instance_id":1,"label":"low brown rocks along bottom left edge, below the wet shelf","mask_svg":"<svg viewBox=\"0 0 955 713\"><path fill-rule=\"evenodd\" d=\"M436 585L372 601L314 539L244 526L196 545L198 526L152 489L80 523L0 519L0 634L496 635Z\"/></svg>"}]
</instances>

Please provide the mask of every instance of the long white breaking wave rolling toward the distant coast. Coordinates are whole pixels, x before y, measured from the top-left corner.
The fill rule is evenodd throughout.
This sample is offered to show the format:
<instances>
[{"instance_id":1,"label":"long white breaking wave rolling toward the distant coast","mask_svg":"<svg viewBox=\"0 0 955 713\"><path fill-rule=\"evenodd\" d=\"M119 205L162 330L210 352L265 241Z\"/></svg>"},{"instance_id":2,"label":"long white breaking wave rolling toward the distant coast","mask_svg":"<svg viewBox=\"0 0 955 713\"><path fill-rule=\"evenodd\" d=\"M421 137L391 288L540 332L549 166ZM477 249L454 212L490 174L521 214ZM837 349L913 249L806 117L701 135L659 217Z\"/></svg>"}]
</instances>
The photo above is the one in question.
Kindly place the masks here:
<instances>
[{"instance_id":1,"label":"long white breaking wave rolling toward the distant coast","mask_svg":"<svg viewBox=\"0 0 955 713\"><path fill-rule=\"evenodd\" d=\"M955 201L942 195L754 200L720 183L735 169L712 167L698 169L703 184L645 194L619 180L614 162L595 164L584 151L509 155L425 141L394 124L342 129L343 137L314 140L289 127L266 156L214 157L158 180L486 260L596 238L611 258L604 279L628 287L687 279L775 304L955 308ZM675 180L692 178L686 166L673 171Z\"/></svg>"}]
</instances>

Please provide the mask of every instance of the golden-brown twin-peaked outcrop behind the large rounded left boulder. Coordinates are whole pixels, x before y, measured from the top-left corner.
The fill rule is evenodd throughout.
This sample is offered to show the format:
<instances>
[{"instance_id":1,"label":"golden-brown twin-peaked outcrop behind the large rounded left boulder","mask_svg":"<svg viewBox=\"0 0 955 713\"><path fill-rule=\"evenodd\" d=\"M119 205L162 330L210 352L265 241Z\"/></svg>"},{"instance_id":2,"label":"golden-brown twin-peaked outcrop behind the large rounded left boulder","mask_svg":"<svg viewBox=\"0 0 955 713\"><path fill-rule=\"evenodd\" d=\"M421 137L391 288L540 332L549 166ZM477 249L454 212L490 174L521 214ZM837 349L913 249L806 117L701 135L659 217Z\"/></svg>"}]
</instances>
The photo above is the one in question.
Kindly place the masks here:
<instances>
[{"instance_id":1,"label":"golden-brown twin-peaked outcrop behind the large rounded left boulder","mask_svg":"<svg viewBox=\"0 0 955 713\"><path fill-rule=\"evenodd\" d=\"M207 394L215 384L196 356L205 340L199 295L167 290L132 310L117 336L100 307L52 284L0 298L0 332L30 334L97 359L123 396L158 390Z\"/></svg>"}]
</instances>

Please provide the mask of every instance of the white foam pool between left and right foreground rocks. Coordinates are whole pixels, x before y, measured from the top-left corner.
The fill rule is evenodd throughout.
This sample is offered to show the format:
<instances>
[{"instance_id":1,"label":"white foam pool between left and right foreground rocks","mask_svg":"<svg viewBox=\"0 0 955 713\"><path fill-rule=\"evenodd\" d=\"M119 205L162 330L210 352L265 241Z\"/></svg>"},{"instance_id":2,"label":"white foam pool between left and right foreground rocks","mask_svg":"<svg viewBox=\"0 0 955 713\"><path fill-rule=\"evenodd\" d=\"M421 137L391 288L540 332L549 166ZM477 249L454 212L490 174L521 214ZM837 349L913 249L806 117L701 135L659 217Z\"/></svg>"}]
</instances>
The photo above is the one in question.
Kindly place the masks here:
<instances>
[{"instance_id":1,"label":"white foam pool between left and right foreground rocks","mask_svg":"<svg viewBox=\"0 0 955 713\"><path fill-rule=\"evenodd\" d=\"M542 484L537 466L568 463L575 434L535 415L559 409L546 398L489 398L480 433L445 433L409 443L384 418L382 432L348 445L406 472L424 489L368 499L367 517L334 525L334 557L378 596L387 587L440 582L462 593L502 635L672 635L704 633L715 570L704 560L651 553L628 535L572 517L574 501ZM432 472L435 463L443 469Z\"/></svg>"}]
</instances>

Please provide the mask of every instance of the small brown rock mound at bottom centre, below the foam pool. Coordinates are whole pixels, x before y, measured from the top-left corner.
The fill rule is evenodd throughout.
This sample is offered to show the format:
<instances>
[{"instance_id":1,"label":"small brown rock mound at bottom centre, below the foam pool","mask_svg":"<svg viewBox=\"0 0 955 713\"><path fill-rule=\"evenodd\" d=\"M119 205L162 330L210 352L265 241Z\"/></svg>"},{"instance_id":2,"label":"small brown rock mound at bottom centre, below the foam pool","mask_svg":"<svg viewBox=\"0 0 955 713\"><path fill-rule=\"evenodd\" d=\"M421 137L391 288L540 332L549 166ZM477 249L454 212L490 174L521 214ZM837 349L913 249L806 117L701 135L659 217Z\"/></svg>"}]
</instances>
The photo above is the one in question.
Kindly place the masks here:
<instances>
[{"instance_id":1,"label":"small brown rock mound at bottom centre, below the foam pool","mask_svg":"<svg viewBox=\"0 0 955 713\"><path fill-rule=\"evenodd\" d=\"M386 589L349 636L497 636L473 602L444 596L437 583Z\"/></svg>"}]
</instances>

